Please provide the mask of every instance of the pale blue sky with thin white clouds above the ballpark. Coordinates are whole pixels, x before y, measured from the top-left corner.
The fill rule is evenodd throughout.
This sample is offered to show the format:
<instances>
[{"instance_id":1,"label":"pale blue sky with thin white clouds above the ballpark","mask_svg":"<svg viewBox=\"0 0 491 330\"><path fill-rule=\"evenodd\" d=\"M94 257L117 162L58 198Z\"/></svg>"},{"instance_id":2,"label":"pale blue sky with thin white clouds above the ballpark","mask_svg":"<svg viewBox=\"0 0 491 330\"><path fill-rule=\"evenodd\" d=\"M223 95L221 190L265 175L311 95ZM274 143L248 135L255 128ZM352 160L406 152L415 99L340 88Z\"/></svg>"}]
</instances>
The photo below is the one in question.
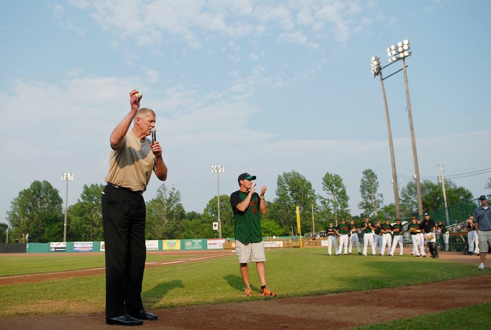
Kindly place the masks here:
<instances>
[{"instance_id":1,"label":"pale blue sky with thin white clouds above the ballpark","mask_svg":"<svg viewBox=\"0 0 491 330\"><path fill-rule=\"evenodd\" d=\"M167 184L202 212L242 172L267 185L296 170L323 194L342 176L359 214L362 171L393 202L387 129L370 57L409 39L421 177L490 168L488 1L18 1L0 14L0 214L34 180L69 204L102 183L128 92L157 112ZM387 68L387 76L400 61ZM394 69L392 69L394 68ZM399 175L414 168L401 73L385 81ZM475 195L491 174L456 179ZM399 179L399 182L404 179ZM403 186L401 184L401 186ZM153 177L145 199L160 186ZM486 192L489 193L489 192ZM0 217L0 221L5 221Z\"/></svg>"}]
</instances>

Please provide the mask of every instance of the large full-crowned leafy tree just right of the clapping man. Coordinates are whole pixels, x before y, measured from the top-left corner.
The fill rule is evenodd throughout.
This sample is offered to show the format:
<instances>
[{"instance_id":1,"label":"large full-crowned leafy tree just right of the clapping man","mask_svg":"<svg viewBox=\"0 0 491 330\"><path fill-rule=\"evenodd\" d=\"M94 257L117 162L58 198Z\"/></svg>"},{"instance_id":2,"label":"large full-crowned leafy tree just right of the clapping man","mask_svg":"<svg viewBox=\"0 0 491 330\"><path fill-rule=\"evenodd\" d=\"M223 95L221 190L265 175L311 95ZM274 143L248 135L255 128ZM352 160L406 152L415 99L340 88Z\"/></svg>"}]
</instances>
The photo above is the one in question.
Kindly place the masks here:
<instances>
[{"instance_id":1,"label":"large full-crowned leafy tree just right of the clapping man","mask_svg":"<svg viewBox=\"0 0 491 330\"><path fill-rule=\"evenodd\" d=\"M276 221L285 231L293 235L297 231L296 206L299 206L302 228L311 227L310 207L317 206L317 195L310 181L300 173L291 171L278 175L276 185L277 197L273 203L267 204L268 218Z\"/></svg>"}]
</instances>

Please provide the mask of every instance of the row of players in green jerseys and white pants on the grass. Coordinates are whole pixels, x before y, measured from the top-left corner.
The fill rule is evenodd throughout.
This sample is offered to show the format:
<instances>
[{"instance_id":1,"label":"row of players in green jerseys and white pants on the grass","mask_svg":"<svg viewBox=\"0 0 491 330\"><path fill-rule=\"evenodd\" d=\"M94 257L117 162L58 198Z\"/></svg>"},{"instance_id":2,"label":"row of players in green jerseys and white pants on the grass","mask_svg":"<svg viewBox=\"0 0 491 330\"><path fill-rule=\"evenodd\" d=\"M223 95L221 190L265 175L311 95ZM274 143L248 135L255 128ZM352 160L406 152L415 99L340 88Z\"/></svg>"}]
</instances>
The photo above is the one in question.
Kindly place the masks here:
<instances>
[{"instance_id":1,"label":"row of players in green jerseys and white pants on the grass","mask_svg":"<svg viewBox=\"0 0 491 330\"><path fill-rule=\"evenodd\" d=\"M432 258L438 258L438 249L436 247L436 231L442 235L445 243L445 250L449 248L449 235L447 228L440 221L435 223L428 213L424 214L425 220L420 221L413 217L409 224L401 224L400 219L395 224L390 224L389 219L385 223L376 220L375 223L370 221L369 217L365 218L362 225L357 226L353 220L346 223L342 220L338 226L334 226L332 221L326 227L325 234L327 237L327 253L332 255L332 245L334 245L334 254L348 255L351 254L353 245L356 246L359 255L367 255L368 245L370 245L372 255L394 255L395 248L399 246L399 255L404 253L404 232L409 232L413 245L412 255L417 258L426 257L425 243L429 249ZM363 235L363 253L360 248L359 234ZM339 247L338 247L339 238ZM387 250L386 250L387 248Z\"/></svg>"}]
</instances>

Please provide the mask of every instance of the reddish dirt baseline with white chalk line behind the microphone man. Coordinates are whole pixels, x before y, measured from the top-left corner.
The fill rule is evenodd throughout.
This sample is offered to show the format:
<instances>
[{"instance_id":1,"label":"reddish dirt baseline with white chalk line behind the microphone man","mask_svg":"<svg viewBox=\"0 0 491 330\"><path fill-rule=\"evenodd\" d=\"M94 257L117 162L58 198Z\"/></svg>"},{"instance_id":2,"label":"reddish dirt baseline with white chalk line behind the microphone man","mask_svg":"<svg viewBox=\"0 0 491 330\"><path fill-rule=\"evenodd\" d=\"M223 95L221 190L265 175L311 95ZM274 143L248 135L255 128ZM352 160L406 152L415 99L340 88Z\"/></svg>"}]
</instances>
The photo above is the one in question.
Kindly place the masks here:
<instances>
[{"instance_id":1,"label":"reddish dirt baseline with white chalk line behind the microphone man","mask_svg":"<svg viewBox=\"0 0 491 330\"><path fill-rule=\"evenodd\" d=\"M171 251L171 253L169 253L169 252L164 252L164 253L153 252L153 254L166 254L166 255L169 255L169 254L173 254L173 255L175 255L175 254L177 254L177 255L200 254L203 256L193 256L193 257L186 257L186 258L148 262L148 263L145 263L145 269L153 268L153 267L160 267L160 266L164 266L164 265L174 265L174 264L178 264L178 263L189 263L189 262L194 262L194 261L207 260L209 258L215 258L215 257L234 254L234 252L227 252L227 251L222 251L222 250L218 250L218 251L213 251L213 250L211 250L211 251L210 250L181 251L184 253L177 253L179 251L176 251L175 253L172 253L172 252L174 252L174 251ZM191 252L197 252L197 253L191 253ZM203 253L203 252L205 252L205 253ZM87 252L87 253L92 253L92 252ZM103 252L100 252L100 253L103 253ZM77 253L77 254L81 254L81 253ZM24 255L26 255L26 254L24 254ZM30 254L30 255L32 255L32 254ZM44 254L44 255L46 255L46 254ZM60 255L58 255L58 256L60 256ZM4 277L0 277L0 286L10 285L10 284L19 284L19 283L28 283L28 282L42 282L42 281L48 281L48 280L54 280L54 279L73 278L73 277L80 277L80 276L99 275L99 274L104 274L104 272L105 272L105 267L99 267L99 268L69 270L69 271L53 272L53 273L4 276Z\"/></svg>"}]
</instances>

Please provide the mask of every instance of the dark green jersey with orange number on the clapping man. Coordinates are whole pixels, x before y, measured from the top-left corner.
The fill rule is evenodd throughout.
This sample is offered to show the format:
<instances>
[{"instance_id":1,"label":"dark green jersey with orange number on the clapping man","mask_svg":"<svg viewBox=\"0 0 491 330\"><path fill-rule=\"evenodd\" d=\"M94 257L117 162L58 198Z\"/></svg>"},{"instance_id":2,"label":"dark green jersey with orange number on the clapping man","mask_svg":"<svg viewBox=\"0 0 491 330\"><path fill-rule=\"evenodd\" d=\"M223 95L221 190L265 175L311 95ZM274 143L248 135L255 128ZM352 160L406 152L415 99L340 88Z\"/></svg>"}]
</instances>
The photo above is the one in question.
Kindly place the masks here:
<instances>
[{"instance_id":1,"label":"dark green jersey with orange number on the clapping man","mask_svg":"<svg viewBox=\"0 0 491 330\"><path fill-rule=\"evenodd\" d=\"M243 244L259 243L262 241L261 214L259 212L261 200L259 195L254 193L251 196L251 202L243 212L235 208L248 194L238 190L230 196L230 204L234 210L235 239Z\"/></svg>"}]
</instances>

